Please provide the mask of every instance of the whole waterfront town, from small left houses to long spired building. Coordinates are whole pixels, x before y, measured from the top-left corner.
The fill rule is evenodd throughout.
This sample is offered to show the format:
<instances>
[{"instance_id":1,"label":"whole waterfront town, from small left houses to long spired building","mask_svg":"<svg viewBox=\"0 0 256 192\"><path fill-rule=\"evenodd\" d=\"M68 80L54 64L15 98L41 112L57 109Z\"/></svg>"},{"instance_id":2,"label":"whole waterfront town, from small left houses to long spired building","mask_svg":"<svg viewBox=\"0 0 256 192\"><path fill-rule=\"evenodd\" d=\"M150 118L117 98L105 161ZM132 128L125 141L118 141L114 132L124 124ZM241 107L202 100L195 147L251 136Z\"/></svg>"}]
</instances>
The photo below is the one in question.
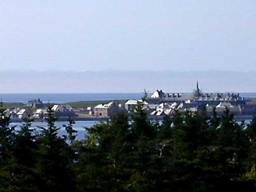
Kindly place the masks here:
<instances>
[{"instance_id":1,"label":"whole waterfront town, from small left houses to long spired building","mask_svg":"<svg viewBox=\"0 0 256 192\"><path fill-rule=\"evenodd\" d=\"M199 89L198 82L192 94L165 93L162 90L156 90L144 102L140 99L130 99L122 105L112 101L86 109L74 109L70 105L60 104L54 105L52 110L56 117L76 117L78 115L80 117L108 117L118 111L127 111L132 114L136 110L138 102L142 103L148 116L172 115L175 110L180 113L184 113L186 110L196 112L202 110L204 106L206 106L206 111L209 115L213 114L214 108L216 108L218 115L221 115L226 108L230 110L230 113L234 113L237 116L256 114L256 105L248 104L248 100L241 97L239 93L203 93ZM11 118L25 118L30 114L34 118L43 119L48 115L47 108L44 108L44 104L40 99L28 101L24 108L7 109L6 113Z\"/></svg>"}]
</instances>

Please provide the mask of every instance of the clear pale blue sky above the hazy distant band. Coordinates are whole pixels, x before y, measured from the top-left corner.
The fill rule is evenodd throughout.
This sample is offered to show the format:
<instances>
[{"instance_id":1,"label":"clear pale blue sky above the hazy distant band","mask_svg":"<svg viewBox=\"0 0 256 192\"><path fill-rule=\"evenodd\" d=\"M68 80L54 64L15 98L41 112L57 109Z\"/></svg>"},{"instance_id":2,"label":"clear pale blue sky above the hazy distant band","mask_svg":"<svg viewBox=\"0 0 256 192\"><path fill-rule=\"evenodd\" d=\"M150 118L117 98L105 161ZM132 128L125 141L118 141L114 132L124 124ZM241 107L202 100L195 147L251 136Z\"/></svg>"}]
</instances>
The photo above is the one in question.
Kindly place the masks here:
<instances>
[{"instance_id":1,"label":"clear pale blue sky above the hazy distant band","mask_svg":"<svg viewBox=\"0 0 256 192\"><path fill-rule=\"evenodd\" d=\"M0 70L255 70L255 0L1 0Z\"/></svg>"}]
</instances>

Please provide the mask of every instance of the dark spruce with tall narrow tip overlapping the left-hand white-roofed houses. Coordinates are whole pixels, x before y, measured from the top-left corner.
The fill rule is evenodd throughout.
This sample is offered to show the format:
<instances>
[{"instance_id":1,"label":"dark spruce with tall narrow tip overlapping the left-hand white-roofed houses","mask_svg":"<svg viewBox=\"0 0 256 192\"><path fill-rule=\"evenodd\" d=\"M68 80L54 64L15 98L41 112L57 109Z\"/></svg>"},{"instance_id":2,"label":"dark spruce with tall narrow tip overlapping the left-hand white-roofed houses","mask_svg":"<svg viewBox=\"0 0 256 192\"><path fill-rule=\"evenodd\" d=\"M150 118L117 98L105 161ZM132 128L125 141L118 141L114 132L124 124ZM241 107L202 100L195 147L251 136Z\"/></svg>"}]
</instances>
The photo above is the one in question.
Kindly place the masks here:
<instances>
[{"instance_id":1,"label":"dark spruce with tall narrow tip overlapping the left-hand white-roofed houses","mask_svg":"<svg viewBox=\"0 0 256 192\"><path fill-rule=\"evenodd\" d=\"M60 128L55 126L56 117L53 116L52 106L48 106L48 127L40 127L41 134L38 137L39 149L36 172L38 174L38 187L41 191L71 191L74 190L72 171L69 164L72 163L68 144L57 136Z\"/></svg>"}]
</instances>

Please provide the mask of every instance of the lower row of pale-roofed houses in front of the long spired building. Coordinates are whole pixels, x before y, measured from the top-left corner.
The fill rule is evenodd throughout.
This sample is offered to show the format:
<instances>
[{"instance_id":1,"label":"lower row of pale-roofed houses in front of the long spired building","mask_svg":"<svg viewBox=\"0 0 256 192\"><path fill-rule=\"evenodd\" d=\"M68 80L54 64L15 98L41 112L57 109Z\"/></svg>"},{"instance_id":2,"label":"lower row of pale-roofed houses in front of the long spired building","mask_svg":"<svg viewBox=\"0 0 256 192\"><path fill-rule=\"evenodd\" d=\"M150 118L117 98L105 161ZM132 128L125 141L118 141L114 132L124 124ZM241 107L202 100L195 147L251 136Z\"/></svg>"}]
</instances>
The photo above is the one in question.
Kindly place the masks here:
<instances>
[{"instance_id":1,"label":"lower row of pale-roofed houses in front of the long spired building","mask_svg":"<svg viewBox=\"0 0 256 192\"><path fill-rule=\"evenodd\" d=\"M136 110L136 106L141 100L128 100L124 107L120 107L120 105L116 105L114 102L110 102L108 104L103 104L100 106L96 106L94 108L95 116L110 116L114 112L120 110L126 110L128 113L133 113ZM143 102L143 108L148 113L148 116L164 116L164 115L172 115L175 110L178 110L181 114L184 114L187 110L191 112L200 111L206 105L206 112L208 115L213 115L213 111L215 111L217 115L222 115L222 113L228 108L230 113L233 113L236 116L243 115L254 115L256 114L256 105L254 104L238 104L232 105L230 102L220 102L218 105L210 105L210 104L202 104L195 102L174 102L172 104L169 103L161 103L161 104L149 104L148 102Z\"/></svg>"}]
</instances>

